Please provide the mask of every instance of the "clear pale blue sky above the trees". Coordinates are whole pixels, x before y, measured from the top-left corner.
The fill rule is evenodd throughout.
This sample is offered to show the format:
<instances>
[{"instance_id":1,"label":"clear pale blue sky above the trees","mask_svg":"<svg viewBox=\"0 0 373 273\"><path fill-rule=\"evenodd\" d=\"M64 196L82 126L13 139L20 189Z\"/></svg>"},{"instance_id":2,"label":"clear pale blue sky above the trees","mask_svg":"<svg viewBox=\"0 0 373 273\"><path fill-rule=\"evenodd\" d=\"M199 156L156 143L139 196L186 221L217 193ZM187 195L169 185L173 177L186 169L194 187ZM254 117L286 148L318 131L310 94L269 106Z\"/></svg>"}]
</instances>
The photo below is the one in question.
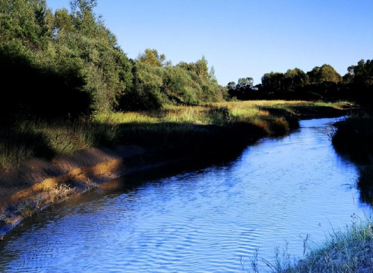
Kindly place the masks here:
<instances>
[{"instance_id":1,"label":"clear pale blue sky above the trees","mask_svg":"<svg viewBox=\"0 0 373 273\"><path fill-rule=\"evenodd\" d=\"M373 59L373 0L97 0L94 12L129 58L146 48L174 65L204 55L223 86L323 64L343 76Z\"/></svg>"}]
</instances>

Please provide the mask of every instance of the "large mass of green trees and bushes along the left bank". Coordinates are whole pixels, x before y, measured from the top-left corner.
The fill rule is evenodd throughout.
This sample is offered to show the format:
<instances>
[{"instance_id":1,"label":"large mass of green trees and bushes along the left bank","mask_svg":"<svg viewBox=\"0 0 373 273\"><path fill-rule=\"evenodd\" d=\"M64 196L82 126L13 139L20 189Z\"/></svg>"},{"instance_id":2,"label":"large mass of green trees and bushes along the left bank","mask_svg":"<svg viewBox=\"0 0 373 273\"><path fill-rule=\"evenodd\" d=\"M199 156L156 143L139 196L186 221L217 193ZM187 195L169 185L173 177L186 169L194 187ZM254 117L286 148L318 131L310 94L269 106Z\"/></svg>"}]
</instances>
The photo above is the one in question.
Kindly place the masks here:
<instances>
[{"instance_id":1,"label":"large mass of green trees and bushes along the left bank","mask_svg":"<svg viewBox=\"0 0 373 273\"><path fill-rule=\"evenodd\" d=\"M71 0L70 5L70 11L52 13L45 0L0 0L4 120L223 98L225 89L207 72L204 58L188 67L172 66L163 54L146 49L129 60L93 12L96 0Z\"/></svg>"}]
</instances>

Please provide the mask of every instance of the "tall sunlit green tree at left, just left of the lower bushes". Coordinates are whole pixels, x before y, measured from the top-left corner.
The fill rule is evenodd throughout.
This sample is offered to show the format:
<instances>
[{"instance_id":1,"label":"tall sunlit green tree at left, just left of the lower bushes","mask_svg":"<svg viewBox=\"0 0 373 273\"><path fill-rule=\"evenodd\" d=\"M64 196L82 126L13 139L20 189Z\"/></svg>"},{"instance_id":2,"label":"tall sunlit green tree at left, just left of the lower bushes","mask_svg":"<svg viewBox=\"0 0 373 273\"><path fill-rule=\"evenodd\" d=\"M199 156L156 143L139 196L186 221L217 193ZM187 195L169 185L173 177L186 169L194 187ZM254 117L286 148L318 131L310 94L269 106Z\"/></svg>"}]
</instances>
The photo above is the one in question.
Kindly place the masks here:
<instances>
[{"instance_id":1,"label":"tall sunlit green tree at left, just left of the lower bushes","mask_svg":"<svg viewBox=\"0 0 373 273\"><path fill-rule=\"evenodd\" d=\"M95 0L72 0L71 13L56 10L54 45L58 61L75 60L90 94L93 111L117 106L118 99L131 85L131 64L93 8Z\"/></svg>"}]
</instances>

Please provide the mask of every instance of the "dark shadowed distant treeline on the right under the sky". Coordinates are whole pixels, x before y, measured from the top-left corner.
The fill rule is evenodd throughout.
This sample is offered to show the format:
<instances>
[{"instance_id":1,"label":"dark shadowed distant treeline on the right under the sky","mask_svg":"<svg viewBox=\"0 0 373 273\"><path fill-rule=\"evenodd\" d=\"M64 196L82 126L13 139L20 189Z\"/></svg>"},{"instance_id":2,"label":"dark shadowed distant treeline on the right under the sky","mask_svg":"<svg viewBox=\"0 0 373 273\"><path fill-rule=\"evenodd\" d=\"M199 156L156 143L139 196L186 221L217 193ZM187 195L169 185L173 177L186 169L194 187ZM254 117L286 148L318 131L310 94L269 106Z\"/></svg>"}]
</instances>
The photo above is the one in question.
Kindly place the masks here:
<instances>
[{"instance_id":1,"label":"dark shadowed distant treeline on the right under the sky","mask_svg":"<svg viewBox=\"0 0 373 273\"><path fill-rule=\"evenodd\" d=\"M262 77L262 83L253 85L250 77L228 83L230 98L250 99L347 99L373 106L373 60L360 60L347 68L343 77L332 66L315 67L304 73L301 69L288 69L286 73L271 72Z\"/></svg>"}]
</instances>

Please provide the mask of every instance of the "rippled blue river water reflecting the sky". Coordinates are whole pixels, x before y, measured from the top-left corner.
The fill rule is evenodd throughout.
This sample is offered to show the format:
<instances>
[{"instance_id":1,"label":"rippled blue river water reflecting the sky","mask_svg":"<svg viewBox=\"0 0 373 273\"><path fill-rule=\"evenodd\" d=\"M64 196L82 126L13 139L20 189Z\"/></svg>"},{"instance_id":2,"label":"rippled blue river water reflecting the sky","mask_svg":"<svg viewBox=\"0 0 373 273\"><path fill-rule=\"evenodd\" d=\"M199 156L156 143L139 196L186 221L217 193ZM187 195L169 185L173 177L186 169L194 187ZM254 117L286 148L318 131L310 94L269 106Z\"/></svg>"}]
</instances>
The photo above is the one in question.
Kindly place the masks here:
<instances>
[{"instance_id":1,"label":"rippled blue river water reflecting the sky","mask_svg":"<svg viewBox=\"0 0 373 273\"><path fill-rule=\"evenodd\" d=\"M272 261L285 242L300 257L307 234L318 244L370 213L357 167L331 145L333 121L302 121L229 163L117 179L56 205L7 235L0 271L241 272L255 249Z\"/></svg>"}]
</instances>

